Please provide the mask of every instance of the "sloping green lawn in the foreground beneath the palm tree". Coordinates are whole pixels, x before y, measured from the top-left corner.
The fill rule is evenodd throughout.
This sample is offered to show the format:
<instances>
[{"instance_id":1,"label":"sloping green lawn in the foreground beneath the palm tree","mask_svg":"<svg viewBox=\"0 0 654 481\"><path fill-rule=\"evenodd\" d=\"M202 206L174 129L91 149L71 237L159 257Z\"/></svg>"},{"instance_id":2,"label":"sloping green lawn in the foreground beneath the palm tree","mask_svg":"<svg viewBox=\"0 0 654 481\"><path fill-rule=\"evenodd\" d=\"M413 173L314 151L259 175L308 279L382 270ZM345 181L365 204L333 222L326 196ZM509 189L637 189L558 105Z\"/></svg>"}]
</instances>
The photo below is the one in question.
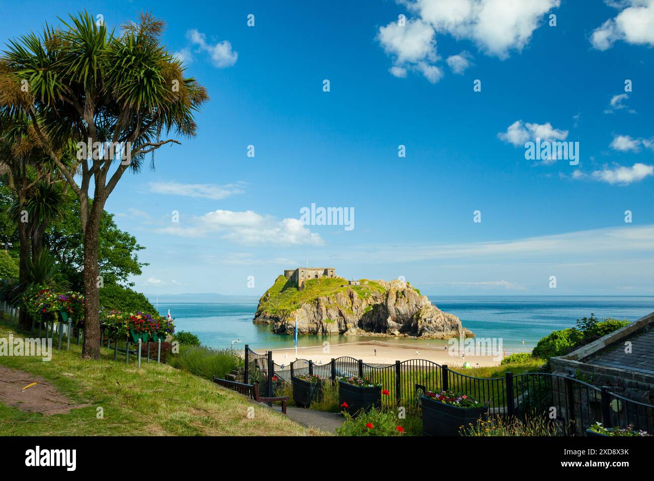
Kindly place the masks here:
<instances>
[{"instance_id":1,"label":"sloping green lawn in the foreground beneath the palm tree","mask_svg":"<svg viewBox=\"0 0 654 481\"><path fill-rule=\"evenodd\" d=\"M13 332L0 324L0 337ZM102 349L101 360L83 361L80 347L54 349L52 361L35 357L0 357L0 364L43 376L78 404L68 414L43 416L0 402L2 435L311 435L285 416L254 405L245 397L167 365L113 361ZM132 356L130 356L132 361ZM64 374L65 373L65 374ZM254 405L254 419L247 409ZM104 419L96 418L97 407Z\"/></svg>"}]
</instances>

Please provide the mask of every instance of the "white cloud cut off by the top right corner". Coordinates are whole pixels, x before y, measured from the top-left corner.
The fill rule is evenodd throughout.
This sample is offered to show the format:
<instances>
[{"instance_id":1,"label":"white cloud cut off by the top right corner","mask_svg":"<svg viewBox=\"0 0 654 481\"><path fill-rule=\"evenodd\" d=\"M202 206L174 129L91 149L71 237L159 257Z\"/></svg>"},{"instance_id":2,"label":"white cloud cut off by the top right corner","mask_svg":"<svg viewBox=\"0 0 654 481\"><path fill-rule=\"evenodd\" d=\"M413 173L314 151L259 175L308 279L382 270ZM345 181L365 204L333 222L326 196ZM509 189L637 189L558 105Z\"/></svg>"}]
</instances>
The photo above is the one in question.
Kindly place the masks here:
<instances>
[{"instance_id":1,"label":"white cloud cut off by the top right corner","mask_svg":"<svg viewBox=\"0 0 654 481\"><path fill-rule=\"evenodd\" d=\"M597 27L591 35L591 44L598 50L607 50L617 41L632 45L654 46L654 0L627 0L612 3L623 9Z\"/></svg>"}]
</instances>

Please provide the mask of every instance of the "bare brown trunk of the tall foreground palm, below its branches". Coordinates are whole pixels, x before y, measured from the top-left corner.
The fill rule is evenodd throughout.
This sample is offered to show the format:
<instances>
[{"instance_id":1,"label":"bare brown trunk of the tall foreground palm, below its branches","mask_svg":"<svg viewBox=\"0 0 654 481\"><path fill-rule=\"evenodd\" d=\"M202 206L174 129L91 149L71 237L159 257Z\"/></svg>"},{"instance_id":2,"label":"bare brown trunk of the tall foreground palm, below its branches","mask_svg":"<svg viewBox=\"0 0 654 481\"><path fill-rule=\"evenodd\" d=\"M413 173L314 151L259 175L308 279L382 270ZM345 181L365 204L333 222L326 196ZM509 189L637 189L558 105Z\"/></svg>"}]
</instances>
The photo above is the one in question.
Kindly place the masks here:
<instances>
[{"instance_id":1,"label":"bare brown trunk of the tall foreground palm, below its branches","mask_svg":"<svg viewBox=\"0 0 654 481\"><path fill-rule=\"evenodd\" d=\"M84 345L83 359L100 357L100 298L97 288L97 244L100 215L104 202L95 199L90 209L84 232Z\"/></svg>"}]
</instances>

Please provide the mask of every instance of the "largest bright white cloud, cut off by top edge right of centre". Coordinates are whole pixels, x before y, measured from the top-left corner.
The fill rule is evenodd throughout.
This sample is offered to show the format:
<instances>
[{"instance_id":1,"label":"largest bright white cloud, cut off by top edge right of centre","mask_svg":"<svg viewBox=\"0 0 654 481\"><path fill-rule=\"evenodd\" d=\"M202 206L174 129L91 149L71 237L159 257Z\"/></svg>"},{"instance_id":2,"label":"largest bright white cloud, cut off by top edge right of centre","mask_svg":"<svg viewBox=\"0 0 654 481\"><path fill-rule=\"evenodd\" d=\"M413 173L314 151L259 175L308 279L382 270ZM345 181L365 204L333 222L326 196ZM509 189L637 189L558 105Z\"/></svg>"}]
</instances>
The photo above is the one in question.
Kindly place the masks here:
<instances>
[{"instance_id":1,"label":"largest bright white cloud, cut off by top edge right of centre","mask_svg":"<svg viewBox=\"0 0 654 481\"><path fill-rule=\"evenodd\" d=\"M473 41L480 50L507 58L522 50L559 0L416 0L402 1L438 33Z\"/></svg>"}]
</instances>

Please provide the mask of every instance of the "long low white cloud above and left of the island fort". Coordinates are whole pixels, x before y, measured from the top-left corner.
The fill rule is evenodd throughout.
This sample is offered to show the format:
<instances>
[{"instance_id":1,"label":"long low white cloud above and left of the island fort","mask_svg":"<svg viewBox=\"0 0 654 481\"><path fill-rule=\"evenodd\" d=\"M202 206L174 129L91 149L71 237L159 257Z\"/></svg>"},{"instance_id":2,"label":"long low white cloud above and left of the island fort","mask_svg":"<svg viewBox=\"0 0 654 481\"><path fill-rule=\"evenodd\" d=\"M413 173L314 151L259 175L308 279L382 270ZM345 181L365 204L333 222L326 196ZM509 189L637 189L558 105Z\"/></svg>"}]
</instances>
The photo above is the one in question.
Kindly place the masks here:
<instances>
[{"instance_id":1,"label":"long low white cloud above and left of the island fort","mask_svg":"<svg viewBox=\"0 0 654 481\"><path fill-rule=\"evenodd\" d=\"M253 211L218 209L194 217L189 224L174 224L156 232L188 238L218 234L221 239L247 245L322 245L320 235L311 232L300 219L282 219Z\"/></svg>"}]
</instances>

